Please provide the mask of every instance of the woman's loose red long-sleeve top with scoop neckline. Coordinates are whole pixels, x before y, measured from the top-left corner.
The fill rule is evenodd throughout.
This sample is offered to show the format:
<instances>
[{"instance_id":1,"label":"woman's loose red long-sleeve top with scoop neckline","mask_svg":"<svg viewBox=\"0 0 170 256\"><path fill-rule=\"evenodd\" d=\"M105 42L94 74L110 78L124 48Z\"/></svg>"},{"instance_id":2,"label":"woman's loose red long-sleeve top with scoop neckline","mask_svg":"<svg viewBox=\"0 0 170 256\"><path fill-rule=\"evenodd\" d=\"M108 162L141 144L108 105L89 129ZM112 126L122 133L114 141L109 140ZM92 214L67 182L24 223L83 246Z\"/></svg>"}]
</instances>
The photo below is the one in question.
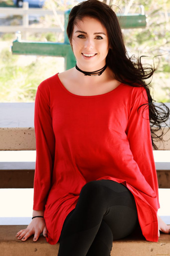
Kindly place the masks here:
<instances>
[{"instance_id":1,"label":"woman's loose red long-sleeve top with scoop neckline","mask_svg":"<svg viewBox=\"0 0 170 256\"><path fill-rule=\"evenodd\" d=\"M123 183L131 191L143 236L158 241L160 205L149 108L137 111L147 102L144 87L123 83L92 96L69 92L57 74L40 83L33 210L45 210L48 243L58 242L82 187L101 179Z\"/></svg>"}]
</instances>

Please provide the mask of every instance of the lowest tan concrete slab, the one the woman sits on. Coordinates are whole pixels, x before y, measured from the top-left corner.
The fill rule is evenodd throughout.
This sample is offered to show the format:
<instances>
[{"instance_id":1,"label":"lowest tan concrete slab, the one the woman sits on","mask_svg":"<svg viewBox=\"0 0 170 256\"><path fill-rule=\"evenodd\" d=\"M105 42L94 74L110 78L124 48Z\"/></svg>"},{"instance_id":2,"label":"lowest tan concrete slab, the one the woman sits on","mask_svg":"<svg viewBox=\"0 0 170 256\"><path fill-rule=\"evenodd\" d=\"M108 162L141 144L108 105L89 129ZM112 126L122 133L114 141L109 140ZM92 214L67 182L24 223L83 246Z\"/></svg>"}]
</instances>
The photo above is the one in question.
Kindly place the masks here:
<instances>
[{"instance_id":1,"label":"lowest tan concrete slab, the one the woman sits on","mask_svg":"<svg viewBox=\"0 0 170 256\"><path fill-rule=\"evenodd\" d=\"M19 241L16 233L26 226L0 226L0 254L2 256L56 256L60 243L50 245L41 235L37 242L33 242L33 236L27 241ZM170 225L169 225L170 227ZM113 241L111 256L157 256L170 255L170 235L160 234L157 243L146 241L141 231L135 232L126 238ZM73 256L73 255L70 255ZM81 255L80 255L81 256ZM97 256L97 255L94 255ZM104 255L105 256L105 255Z\"/></svg>"}]
</instances>

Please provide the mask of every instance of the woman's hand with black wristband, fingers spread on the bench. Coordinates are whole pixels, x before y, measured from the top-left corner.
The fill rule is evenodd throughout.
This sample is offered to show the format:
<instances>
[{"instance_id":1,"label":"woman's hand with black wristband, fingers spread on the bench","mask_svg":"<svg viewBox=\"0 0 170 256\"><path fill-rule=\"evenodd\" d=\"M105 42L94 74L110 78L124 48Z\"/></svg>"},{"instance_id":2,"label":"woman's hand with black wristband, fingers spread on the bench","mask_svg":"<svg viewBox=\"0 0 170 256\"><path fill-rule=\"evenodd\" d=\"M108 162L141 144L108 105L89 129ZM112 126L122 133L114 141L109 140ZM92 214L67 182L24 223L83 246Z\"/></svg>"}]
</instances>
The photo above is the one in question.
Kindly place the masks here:
<instances>
[{"instance_id":1,"label":"woman's hand with black wristband, fingers spread on the bench","mask_svg":"<svg viewBox=\"0 0 170 256\"><path fill-rule=\"evenodd\" d=\"M37 211L39 213L40 211ZM40 214L33 213L33 216L38 216ZM43 215L43 214L42 214ZM47 228L44 218L34 218L26 229L20 230L16 237L21 239L21 241L26 241L28 237L34 235L33 241L36 242L39 238L39 235L43 233L43 236L47 237Z\"/></svg>"}]
</instances>

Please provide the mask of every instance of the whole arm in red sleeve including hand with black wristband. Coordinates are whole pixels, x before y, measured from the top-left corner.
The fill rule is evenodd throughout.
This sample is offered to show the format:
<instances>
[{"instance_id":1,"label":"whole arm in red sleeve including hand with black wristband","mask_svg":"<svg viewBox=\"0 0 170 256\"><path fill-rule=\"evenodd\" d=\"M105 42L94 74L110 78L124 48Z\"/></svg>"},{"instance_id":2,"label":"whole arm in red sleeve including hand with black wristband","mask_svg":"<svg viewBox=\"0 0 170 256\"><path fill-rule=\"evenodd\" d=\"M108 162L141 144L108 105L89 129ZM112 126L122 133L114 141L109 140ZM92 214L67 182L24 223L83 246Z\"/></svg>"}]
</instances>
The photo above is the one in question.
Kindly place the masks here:
<instances>
[{"instance_id":1,"label":"whole arm in red sleeve including hand with black wristband","mask_svg":"<svg viewBox=\"0 0 170 256\"><path fill-rule=\"evenodd\" d=\"M32 217L44 216L45 204L51 187L55 154L55 135L50 113L50 92L47 80L37 89L35 99L35 134L36 134L36 169L34 178L33 213ZM16 237L22 241L34 234L37 241L43 232L47 236L44 218L33 218L26 229L20 230Z\"/></svg>"}]
</instances>

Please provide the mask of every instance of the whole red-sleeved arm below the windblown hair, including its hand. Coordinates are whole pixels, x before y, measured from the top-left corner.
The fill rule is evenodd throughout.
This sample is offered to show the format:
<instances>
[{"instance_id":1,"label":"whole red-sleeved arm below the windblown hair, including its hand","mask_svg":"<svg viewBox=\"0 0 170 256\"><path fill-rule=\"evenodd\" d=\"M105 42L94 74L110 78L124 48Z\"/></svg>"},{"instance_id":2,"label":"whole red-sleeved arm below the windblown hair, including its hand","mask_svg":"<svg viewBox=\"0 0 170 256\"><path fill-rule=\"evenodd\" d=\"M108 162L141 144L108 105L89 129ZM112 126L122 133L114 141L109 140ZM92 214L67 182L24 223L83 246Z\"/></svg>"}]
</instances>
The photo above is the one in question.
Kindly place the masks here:
<instances>
[{"instance_id":1,"label":"whole red-sleeved arm below the windblown hair, including its hand","mask_svg":"<svg viewBox=\"0 0 170 256\"><path fill-rule=\"evenodd\" d=\"M157 196L157 209L159 209L160 204L158 197L158 181L154 154L152 151L148 106L143 105L139 109L139 113L137 112L139 106L145 103L148 103L148 97L146 90L144 89L134 100L134 102L132 102L131 113L129 116L128 125L126 127L126 134L129 140L130 149L132 151L134 160L137 162L139 169L144 175L146 181L155 191L155 194ZM166 223L158 215L157 219L158 236L160 236L160 231L169 234L170 226L167 226Z\"/></svg>"}]
</instances>

